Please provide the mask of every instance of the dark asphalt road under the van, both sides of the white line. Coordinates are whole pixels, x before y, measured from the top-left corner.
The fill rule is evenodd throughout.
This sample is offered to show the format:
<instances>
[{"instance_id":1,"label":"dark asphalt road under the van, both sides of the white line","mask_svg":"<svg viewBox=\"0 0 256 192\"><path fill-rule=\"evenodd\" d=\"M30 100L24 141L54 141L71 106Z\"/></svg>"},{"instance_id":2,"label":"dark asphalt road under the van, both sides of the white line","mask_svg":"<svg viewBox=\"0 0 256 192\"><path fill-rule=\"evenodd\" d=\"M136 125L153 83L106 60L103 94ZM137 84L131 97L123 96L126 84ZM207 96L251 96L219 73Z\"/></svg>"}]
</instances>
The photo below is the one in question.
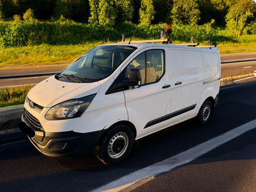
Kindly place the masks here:
<instances>
[{"instance_id":1,"label":"dark asphalt road under the van, both sides of the white line","mask_svg":"<svg viewBox=\"0 0 256 192\"><path fill-rule=\"evenodd\" d=\"M192 119L142 138L126 161L116 166L104 166L95 156L49 158L36 151L28 140L0 145L0 191L97 189L254 120L255 86L256 81L222 87L209 124L199 126ZM158 179L156 183L138 186L135 191L246 191L247 187L250 187L248 191L255 191L255 182L252 181L256 175L255 134L255 130L251 130L189 165L151 180L156 182ZM236 186L225 188L231 185L231 181ZM166 188L159 188L162 185Z\"/></svg>"}]
</instances>

